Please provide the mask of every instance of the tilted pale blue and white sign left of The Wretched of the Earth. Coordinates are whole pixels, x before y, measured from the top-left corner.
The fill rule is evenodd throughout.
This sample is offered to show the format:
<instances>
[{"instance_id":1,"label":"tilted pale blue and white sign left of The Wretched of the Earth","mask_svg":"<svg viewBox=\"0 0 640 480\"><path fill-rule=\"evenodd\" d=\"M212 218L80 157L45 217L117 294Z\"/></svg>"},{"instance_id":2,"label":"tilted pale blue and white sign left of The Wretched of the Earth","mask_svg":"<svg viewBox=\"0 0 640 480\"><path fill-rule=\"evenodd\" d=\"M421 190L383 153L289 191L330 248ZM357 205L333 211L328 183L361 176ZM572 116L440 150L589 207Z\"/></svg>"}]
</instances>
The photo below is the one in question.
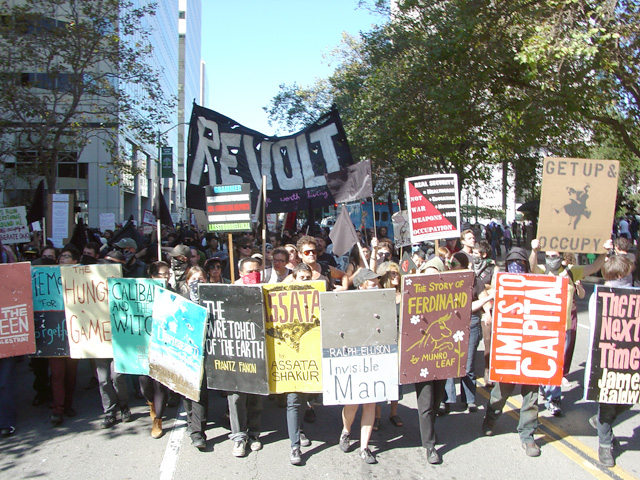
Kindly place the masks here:
<instances>
[{"instance_id":1,"label":"tilted pale blue and white sign left of The Wretched of the Earth","mask_svg":"<svg viewBox=\"0 0 640 480\"><path fill-rule=\"evenodd\" d=\"M154 293L149 376L198 401L207 311L165 288L156 287Z\"/></svg>"}]
</instances>

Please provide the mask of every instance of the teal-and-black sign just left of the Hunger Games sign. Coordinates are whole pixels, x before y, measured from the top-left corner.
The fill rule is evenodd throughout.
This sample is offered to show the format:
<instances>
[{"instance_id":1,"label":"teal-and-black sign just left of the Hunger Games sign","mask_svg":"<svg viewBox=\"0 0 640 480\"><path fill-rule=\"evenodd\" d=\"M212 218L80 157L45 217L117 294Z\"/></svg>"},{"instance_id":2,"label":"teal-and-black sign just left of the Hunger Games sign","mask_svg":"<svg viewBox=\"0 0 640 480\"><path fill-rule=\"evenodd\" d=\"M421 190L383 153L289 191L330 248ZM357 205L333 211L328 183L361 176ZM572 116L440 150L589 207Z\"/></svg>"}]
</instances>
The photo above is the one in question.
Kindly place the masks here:
<instances>
[{"instance_id":1,"label":"teal-and-black sign just left of the Hunger Games sign","mask_svg":"<svg viewBox=\"0 0 640 480\"><path fill-rule=\"evenodd\" d=\"M69 340L64 316L60 266L31 267L36 357L68 357Z\"/></svg>"}]
</instances>

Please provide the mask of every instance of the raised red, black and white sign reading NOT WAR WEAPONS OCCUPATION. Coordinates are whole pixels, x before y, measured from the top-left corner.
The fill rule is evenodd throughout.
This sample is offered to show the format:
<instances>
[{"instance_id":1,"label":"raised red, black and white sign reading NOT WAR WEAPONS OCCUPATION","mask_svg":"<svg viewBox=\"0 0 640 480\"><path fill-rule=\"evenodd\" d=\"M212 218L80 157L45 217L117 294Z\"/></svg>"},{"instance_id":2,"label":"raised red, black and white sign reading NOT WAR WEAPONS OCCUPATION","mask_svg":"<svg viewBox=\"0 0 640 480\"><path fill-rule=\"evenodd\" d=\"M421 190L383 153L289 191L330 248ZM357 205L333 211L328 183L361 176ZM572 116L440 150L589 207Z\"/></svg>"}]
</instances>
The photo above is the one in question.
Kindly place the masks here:
<instances>
[{"instance_id":1,"label":"raised red, black and white sign reading NOT WAR WEAPONS OCCUPATION","mask_svg":"<svg viewBox=\"0 0 640 480\"><path fill-rule=\"evenodd\" d=\"M405 180L411 243L460 236L460 197L456 174Z\"/></svg>"}]
</instances>

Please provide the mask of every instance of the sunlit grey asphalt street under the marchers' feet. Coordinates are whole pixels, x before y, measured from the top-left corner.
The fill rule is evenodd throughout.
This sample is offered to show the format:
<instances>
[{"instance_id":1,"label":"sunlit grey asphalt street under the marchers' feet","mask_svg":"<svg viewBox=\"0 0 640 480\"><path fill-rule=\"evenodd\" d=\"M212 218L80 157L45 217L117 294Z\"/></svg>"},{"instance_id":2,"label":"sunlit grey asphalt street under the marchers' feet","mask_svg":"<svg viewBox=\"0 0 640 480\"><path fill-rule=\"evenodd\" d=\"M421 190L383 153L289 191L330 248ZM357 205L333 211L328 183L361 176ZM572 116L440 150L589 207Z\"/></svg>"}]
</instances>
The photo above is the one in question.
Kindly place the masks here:
<instances>
[{"instance_id":1,"label":"sunlit grey asphalt street under the marchers' feet","mask_svg":"<svg viewBox=\"0 0 640 480\"><path fill-rule=\"evenodd\" d=\"M398 409L403 427L392 425L388 421L388 406L383 407L381 428L374 432L371 442L379 462L377 465L366 465L359 458L358 428L354 428L352 438L355 441L351 450L343 453L339 449L341 408L319 405L316 421L304 425L312 444L302 449L303 464L292 466L285 409L279 408L276 401L264 402L264 448L244 458L235 458L231 454L232 442L227 437L229 430L222 425L226 400L218 392L210 395L207 448L202 452L192 447L185 435L185 415L181 406L167 409L164 436L157 440L151 438L148 408L144 400L133 395L133 382L130 384L130 405L134 420L131 423L118 421L112 429L102 430L98 389L84 388L90 377L89 362L84 360L80 362L74 401L78 415L65 418L60 427L53 427L48 406L31 405L35 394L31 387L33 374L29 360L24 359L18 366L17 431L11 437L0 438L0 479L640 478L638 405L623 414L614 426L619 443L617 466L608 469L597 462L598 439L588 423L596 407L582 400L589 332L586 300L579 303L579 309L580 325L568 376L570 383L563 387L564 414L552 417L540 407L536 440L542 455L538 458L525 455L516 433L519 396L513 397L507 405L495 436L482 436L481 423L489 392L481 386L481 379L478 412L463 412L458 404L449 415L437 420L441 465L426 462L424 449L420 446L415 392L407 386ZM480 373L481 351L477 366ZM359 417L356 424L359 424Z\"/></svg>"}]
</instances>

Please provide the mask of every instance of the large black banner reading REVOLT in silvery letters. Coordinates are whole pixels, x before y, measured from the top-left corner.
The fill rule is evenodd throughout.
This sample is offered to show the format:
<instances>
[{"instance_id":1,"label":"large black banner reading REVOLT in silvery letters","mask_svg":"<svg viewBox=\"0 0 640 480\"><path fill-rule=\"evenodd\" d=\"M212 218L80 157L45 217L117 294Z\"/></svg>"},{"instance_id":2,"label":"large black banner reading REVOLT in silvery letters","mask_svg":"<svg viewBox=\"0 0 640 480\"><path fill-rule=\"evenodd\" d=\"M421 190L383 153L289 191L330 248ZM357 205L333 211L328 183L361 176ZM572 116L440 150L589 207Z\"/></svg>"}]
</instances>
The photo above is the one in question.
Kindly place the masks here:
<instances>
[{"instance_id":1,"label":"large black banner reading REVOLT in silvery letters","mask_svg":"<svg viewBox=\"0 0 640 480\"><path fill-rule=\"evenodd\" d=\"M207 185L249 183L255 202L267 177L267 212L334 203L326 173L353 160L337 110L287 137L269 137L193 104L187 159L187 207L204 210ZM254 203L255 205L255 203Z\"/></svg>"}]
</instances>

